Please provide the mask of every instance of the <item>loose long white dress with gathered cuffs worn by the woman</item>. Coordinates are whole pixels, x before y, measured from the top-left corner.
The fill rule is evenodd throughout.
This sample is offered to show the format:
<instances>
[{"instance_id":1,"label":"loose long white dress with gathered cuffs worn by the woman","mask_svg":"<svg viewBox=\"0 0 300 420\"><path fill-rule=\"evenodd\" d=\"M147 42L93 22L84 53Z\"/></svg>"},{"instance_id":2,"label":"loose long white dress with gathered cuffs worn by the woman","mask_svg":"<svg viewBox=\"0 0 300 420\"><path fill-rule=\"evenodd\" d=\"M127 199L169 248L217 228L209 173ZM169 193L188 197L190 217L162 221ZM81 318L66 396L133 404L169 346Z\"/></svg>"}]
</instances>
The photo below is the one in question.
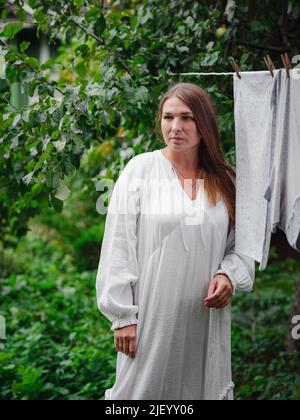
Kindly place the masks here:
<instances>
[{"instance_id":1,"label":"loose long white dress with gathered cuffs worn by the woman","mask_svg":"<svg viewBox=\"0 0 300 420\"><path fill-rule=\"evenodd\" d=\"M109 202L96 289L111 330L137 324L136 356L118 352L106 400L233 399L231 308L203 305L216 273L235 291L252 290L255 262L234 252L228 227L223 200L211 207L203 189L191 200L161 150L127 163Z\"/></svg>"}]
</instances>

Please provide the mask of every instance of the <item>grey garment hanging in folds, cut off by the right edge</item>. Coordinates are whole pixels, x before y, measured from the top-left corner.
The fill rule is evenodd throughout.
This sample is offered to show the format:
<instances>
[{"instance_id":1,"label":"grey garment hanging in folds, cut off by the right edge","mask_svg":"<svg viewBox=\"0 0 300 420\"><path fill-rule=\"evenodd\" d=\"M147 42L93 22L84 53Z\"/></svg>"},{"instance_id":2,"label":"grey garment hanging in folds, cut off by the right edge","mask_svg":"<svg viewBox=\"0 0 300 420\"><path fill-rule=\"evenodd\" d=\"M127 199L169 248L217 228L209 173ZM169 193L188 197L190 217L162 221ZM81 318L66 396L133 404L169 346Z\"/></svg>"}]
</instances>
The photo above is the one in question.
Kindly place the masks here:
<instances>
[{"instance_id":1,"label":"grey garment hanging in folds, cut off by the right edge","mask_svg":"<svg viewBox=\"0 0 300 420\"><path fill-rule=\"evenodd\" d=\"M300 252L300 74L297 69L276 72L276 109L272 133L270 183L262 267L268 261L271 233L285 232Z\"/></svg>"}]
</instances>

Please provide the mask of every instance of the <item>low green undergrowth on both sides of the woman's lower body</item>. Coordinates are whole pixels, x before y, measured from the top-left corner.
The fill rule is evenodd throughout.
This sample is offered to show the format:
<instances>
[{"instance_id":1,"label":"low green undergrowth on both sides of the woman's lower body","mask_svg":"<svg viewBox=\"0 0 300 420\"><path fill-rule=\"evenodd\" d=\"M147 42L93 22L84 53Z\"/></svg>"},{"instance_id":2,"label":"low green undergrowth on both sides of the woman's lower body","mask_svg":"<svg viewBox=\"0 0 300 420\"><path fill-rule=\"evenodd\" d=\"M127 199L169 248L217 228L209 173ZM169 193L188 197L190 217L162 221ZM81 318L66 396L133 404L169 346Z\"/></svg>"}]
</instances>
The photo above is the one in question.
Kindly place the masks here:
<instances>
[{"instance_id":1,"label":"low green undergrowth on both sides of the woman's lower body","mask_svg":"<svg viewBox=\"0 0 300 420\"><path fill-rule=\"evenodd\" d=\"M97 309L96 270L78 271L64 246L29 233L15 251L17 270L0 280L7 321L0 399L103 399L114 383L113 332ZM254 292L234 297L236 399L299 399L299 357L285 344L299 277L298 261L270 264Z\"/></svg>"}]
</instances>

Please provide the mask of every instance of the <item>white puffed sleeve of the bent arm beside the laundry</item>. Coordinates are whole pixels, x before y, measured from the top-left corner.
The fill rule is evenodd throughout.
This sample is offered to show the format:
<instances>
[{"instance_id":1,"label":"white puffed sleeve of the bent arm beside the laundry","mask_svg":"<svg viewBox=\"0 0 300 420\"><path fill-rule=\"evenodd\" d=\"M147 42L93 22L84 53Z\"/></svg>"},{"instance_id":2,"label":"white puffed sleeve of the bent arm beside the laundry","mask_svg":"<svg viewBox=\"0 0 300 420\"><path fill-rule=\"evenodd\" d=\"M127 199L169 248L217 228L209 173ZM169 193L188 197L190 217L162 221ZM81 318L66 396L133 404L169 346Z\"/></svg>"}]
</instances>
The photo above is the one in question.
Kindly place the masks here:
<instances>
[{"instance_id":1,"label":"white puffed sleeve of the bent arm beside the laundry","mask_svg":"<svg viewBox=\"0 0 300 420\"><path fill-rule=\"evenodd\" d=\"M255 279L255 261L234 251L235 230L231 229L226 241L224 258L217 274L226 274L233 286L233 293L251 292Z\"/></svg>"}]
</instances>

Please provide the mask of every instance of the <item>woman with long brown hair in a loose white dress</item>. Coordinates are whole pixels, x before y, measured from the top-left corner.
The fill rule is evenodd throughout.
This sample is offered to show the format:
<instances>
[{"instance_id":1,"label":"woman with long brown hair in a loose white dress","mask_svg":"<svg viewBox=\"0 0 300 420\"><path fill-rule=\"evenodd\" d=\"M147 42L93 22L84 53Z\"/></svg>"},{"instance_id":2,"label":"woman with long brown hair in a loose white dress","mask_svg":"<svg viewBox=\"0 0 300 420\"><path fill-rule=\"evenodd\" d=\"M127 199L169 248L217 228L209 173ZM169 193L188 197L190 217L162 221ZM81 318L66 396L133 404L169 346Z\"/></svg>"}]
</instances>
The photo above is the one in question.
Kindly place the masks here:
<instances>
[{"instance_id":1,"label":"woman with long brown hair in a loose white dress","mask_svg":"<svg viewBox=\"0 0 300 420\"><path fill-rule=\"evenodd\" d=\"M118 357L105 399L233 399L231 296L255 276L234 252L235 173L197 85L168 90L157 124L166 147L127 163L106 218L97 302Z\"/></svg>"}]
</instances>

